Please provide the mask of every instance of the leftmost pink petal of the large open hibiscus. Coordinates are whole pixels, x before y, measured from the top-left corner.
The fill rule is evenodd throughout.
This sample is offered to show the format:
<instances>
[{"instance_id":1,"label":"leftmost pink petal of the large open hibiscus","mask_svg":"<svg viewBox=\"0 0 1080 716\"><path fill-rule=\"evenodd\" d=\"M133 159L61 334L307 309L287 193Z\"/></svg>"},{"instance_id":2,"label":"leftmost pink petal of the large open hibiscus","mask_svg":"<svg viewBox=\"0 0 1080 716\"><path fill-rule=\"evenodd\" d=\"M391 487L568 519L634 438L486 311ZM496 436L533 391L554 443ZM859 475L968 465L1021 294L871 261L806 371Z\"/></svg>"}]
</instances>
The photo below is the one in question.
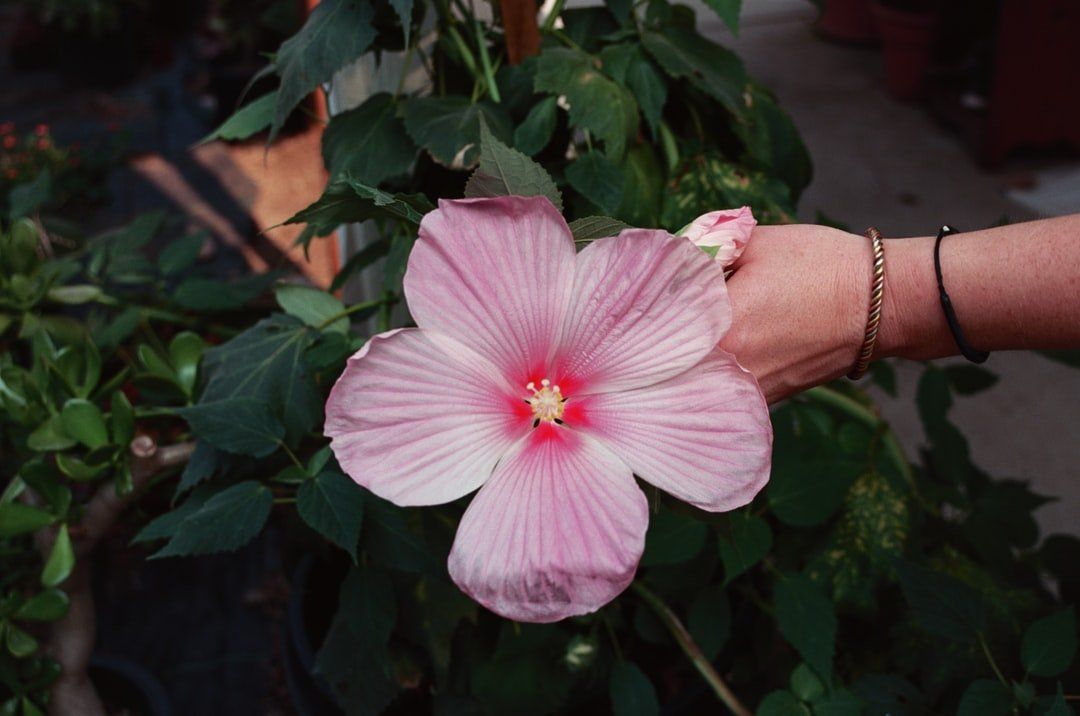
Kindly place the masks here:
<instances>
[{"instance_id":1,"label":"leftmost pink petal of the large open hibiscus","mask_svg":"<svg viewBox=\"0 0 1080 716\"><path fill-rule=\"evenodd\" d=\"M531 424L495 376L445 337L418 328L375 336L326 402L330 448L356 483L391 502L456 500L484 484Z\"/></svg>"}]
</instances>

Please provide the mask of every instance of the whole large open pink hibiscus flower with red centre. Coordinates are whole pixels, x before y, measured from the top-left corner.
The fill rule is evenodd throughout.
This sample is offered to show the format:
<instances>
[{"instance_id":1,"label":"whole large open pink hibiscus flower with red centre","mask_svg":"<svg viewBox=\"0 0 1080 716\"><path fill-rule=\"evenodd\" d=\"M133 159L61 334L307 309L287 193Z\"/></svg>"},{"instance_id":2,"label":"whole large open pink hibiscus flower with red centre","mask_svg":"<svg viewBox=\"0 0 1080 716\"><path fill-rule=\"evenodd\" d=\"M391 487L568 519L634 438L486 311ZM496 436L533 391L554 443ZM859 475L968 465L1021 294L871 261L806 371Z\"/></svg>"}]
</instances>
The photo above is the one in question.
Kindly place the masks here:
<instances>
[{"instance_id":1,"label":"whole large open pink hibiscus flower with red centre","mask_svg":"<svg viewBox=\"0 0 1080 716\"><path fill-rule=\"evenodd\" d=\"M765 485L765 400L716 347L723 269L689 241L627 229L575 253L546 199L442 201L405 296L419 327L349 360L326 434L396 504L480 488L449 572L492 611L556 621L622 592L648 526L635 474L710 511Z\"/></svg>"}]
</instances>

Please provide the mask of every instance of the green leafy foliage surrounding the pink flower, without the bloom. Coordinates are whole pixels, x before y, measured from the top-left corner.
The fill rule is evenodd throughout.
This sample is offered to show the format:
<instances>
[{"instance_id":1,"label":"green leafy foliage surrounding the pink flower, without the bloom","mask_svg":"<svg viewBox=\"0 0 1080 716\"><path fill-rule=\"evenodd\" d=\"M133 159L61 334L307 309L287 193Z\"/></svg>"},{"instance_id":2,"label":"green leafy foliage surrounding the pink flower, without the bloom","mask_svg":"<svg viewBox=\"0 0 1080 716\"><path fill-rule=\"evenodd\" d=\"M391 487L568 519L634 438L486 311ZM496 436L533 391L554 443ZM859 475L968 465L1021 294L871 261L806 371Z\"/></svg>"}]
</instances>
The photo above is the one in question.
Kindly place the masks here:
<instances>
[{"instance_id":1,"label":"green leafy foliage surrounding the pink flower, without the bloom","mask_svg":"<svg viewBox=\"0 0 1080 716\"><path fill-rule=\"evenodd\" d=\"M739 2L708 4L738 30ZM378 68L389 89L328 120L326 188L288 219L312 248L369 221L328 289L222 279L198 262L205 238L160 213L87 238L9 200L3 713L96 703L91 548L127 523L151 558L280 530L301 714L1071 714L1080 541L1041 538L1048 498L973 464L949 410L995 383L983 368L926 368L914 459L849 383L778 406L753 504L707 514L650 489L634 587L558 624L505 622L449 581L467 500L400 509L342 474L326 392L372 333L408 322L401 280L437 199L542 193L586 242L742 204L792 220L810 180L792 121L689 8L556 2L536 23L516 6L323 0L211 134L273 141L337 72ZM363 272L374 289L346 306L335 292ZM873 379L895 393L890 364Z\"/></svg>"}]
</instances>

